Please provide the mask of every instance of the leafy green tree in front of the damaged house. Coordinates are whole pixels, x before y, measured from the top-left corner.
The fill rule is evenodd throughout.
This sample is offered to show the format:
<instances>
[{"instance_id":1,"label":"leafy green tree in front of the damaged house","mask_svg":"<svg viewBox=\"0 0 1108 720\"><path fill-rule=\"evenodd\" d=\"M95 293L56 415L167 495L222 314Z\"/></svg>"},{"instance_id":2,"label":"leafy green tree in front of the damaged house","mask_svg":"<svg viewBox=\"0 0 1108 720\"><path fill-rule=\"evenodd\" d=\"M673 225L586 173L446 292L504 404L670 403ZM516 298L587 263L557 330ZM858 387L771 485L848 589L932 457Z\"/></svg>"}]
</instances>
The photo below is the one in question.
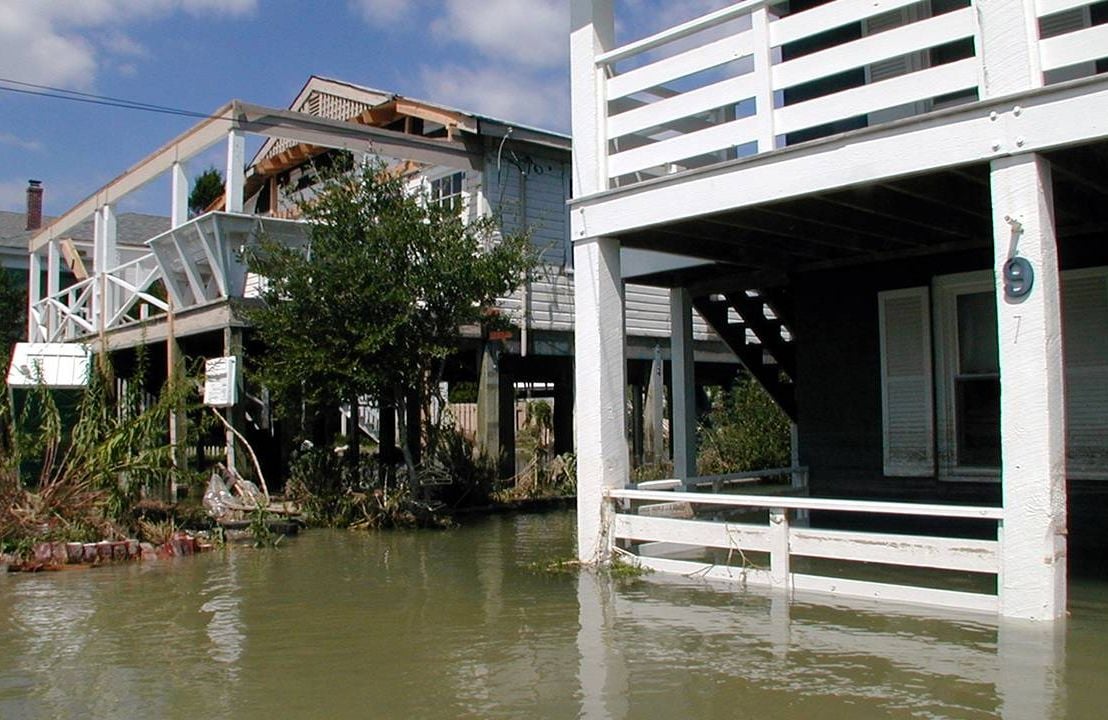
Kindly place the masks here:
<instances>
[{"instance_id":1,"label":"leafy green tree in front of the damaged house","mask_svg":"<svg viewBox=\"0 0 1108 720\"><path fill-rule=\"evenodd\" d=\"M495 238L491 218L466 223L379 163L352 171L349 161L336 163L316 189L300 207L310 227L305 248L263 239L246 256L267 278L261 306L249 311L266 346L260 378L286 416L299 415L301 403L357 408L366 395L391 398L407 438L406 391L437 388L460 328L481 322L494 298L522 284L533 265L529 238ZM414 449L402 449L414 479Z\"/></svg>"}]
</instances>

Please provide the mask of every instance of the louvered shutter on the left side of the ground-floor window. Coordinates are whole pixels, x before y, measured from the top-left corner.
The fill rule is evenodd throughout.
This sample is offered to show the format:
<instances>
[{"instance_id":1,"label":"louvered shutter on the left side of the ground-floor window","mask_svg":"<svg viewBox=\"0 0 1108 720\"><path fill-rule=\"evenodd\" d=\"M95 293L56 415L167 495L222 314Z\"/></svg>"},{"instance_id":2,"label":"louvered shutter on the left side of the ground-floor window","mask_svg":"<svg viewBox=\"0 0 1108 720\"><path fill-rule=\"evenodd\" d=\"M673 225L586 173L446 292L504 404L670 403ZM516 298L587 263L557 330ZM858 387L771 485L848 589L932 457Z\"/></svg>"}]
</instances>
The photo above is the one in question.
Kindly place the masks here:
<instances>
[{"instance_id":1,"label":"louvered shutter on the left side of the ground-floor window","mask_svg":"<svg viewBox=\"0 0 1108 720\"><path fill-rule=\"evenodd\" d=\"M935 472L929 296L922 287L878 295L885 475Z\"/></svg>"}]
</instances>

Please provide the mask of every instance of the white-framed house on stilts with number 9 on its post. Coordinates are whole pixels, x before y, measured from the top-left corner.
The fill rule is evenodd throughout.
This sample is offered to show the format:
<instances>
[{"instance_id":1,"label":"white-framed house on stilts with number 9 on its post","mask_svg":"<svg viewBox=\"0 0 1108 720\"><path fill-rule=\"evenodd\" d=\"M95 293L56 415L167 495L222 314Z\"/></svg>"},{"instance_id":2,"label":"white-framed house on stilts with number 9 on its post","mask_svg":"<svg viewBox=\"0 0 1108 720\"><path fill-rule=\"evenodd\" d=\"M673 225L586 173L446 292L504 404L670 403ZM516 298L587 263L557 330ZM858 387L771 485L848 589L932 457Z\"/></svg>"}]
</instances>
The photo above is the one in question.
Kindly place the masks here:
<instances>
[{"instance_id":1,"label":"white-framed house on stilts with number 9 on its post","mask_svg":"<svg viewBox=\"0 0 1108 720\"><path fill-rule=\"evenodd\" d=\"M1061 617L1108 541L1108 7L745 0L629 41L572 7L581 558ZM685 459L646 487L635 251ZM796 423L794 492L698 482L696 316Z\"/></svg>"}]
</instances>

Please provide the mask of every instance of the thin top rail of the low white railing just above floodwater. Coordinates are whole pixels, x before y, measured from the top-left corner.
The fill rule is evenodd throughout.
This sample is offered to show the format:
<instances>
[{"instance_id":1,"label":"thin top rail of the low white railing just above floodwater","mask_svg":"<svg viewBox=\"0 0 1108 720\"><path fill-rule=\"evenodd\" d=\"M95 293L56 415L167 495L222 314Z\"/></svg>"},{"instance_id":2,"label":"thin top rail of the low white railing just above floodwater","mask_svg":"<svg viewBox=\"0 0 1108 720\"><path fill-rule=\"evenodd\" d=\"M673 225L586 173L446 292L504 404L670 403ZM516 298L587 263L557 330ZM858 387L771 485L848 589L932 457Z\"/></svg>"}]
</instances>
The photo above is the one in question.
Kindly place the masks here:
<instances>
[{"instance_id":1,"label":"thin top rail of the low white railing just above floodwater","mask_svg":"<svg viewBox=\"0 0 1108 720\"><path fill-rule=\"evenodd\" d=\"M709 493L683 493L671 491L649 491L609 488L605 492L609 500L645 500L659 503L696 503L701 505L728 505L732 507L763 507L782 510L822 510L843 513L870 513L876 515L930 515L934 517L967 517L974 520L1004 520L1003 507L978 505L940 505L935 503L894 503L870 500L838 500L831 497L794 497L780 495L722 495Z\"/></svg>"}]
</instances>

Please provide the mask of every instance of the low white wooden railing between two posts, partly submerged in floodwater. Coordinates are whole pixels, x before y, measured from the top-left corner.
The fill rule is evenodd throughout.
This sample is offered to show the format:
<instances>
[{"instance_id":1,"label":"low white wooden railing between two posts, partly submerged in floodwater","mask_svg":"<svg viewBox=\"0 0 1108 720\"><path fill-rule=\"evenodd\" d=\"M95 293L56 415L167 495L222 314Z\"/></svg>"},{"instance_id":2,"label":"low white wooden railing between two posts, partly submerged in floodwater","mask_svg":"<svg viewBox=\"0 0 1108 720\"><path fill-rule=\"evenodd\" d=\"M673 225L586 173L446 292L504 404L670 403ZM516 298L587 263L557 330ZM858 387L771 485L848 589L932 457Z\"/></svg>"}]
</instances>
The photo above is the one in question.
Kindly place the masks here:
<instances>
[{"instance_id":1,"label":"low white wooden railing between two posts, partly submerged in floodwater","mask_svg":"<svg viewBox=\"0 0 1108 720\"><path fill-rule=\"evenodd\" d=\"M996 576L999 573L999 541L902 535L864 531L818 529L793 523L791 517L812 511L868 514L912 515L930 518L968 518L993 522L999 537L1004 512L999 507L891 503L819 497L708 494L647 490L609 490L613 542L618 547L633 543L639 551L636 563L658 572L679 573L708 579L741 582L789 590L812 590L995 611L993 593L936 589L916 585L830 577L796 572L794 557L822 558L848 564L873 563L912 568L932 568L956 573ZM644 504L663 503L669 508L687 504L697 512L689 520L634 514ZM634 504L634 505L633 505ZM704 511L746 508L768 511L768 523L705 520ZM681 513L677 513L681 514ZM691 514L687 513L686 515ZM698 558L676 559L650 556L649 544L664 544L667 553L684 548L704 555L714 549L726 553L719 562ZM749 562L749 554L769 556L768 566ZM858 567L858 565L854 565Z\"/></svg>"}]
</instances>

